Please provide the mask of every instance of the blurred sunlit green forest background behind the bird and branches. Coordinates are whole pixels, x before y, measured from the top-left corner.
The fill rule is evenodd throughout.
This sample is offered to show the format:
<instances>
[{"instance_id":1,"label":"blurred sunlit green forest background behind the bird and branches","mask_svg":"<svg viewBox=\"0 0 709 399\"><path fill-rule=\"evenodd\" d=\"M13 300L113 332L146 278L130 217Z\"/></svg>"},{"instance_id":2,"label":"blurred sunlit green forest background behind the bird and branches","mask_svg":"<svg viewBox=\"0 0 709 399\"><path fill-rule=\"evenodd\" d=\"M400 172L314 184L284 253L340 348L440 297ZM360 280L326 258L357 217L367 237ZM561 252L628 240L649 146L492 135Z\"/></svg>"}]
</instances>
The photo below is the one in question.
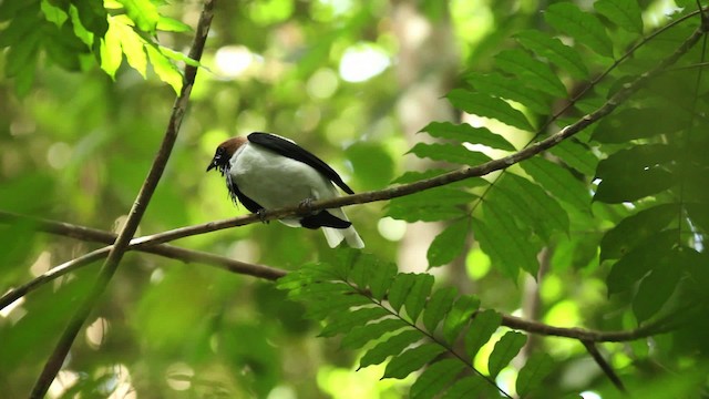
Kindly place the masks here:
<instances>
[{"instance_id":1,"label":"blurred sunlit green forest background behind the bird and branches","mask_svg":"<svg viewBox=\"0 0 709 399\"><path fill-rule=\"evenodd\" d=\"M19 3L0 2L3 33L12 23L20 25L16 22L21 19L16 14ZM192 40L185 27L196 25L202 3L151 3L168 19L155 27L137 27L138 32L156 30L154 39L137 34L116 44L126 52L122 62L115 57L112 62L106 61L111 58L97 62L89 51L74 60L64 57L62 49L75 43L58 44L48 39L55 38L53 29L60 29L49 19L51 7L72 4L81 19L89 3L28 2L37 8L32 9L34 14L25 14L32 27L24 32L29 55L0 40L8 48L0 61L0 209L115 229L147 173L175 95L174 71L164 64L161 69L162 59L151 55L147 48L160 43L185 53ZM237 134L266 131L294 139L328 161L357 192L382 188L404 171L450 166L405 155L414 143L428 140L415 133L431 121L460 121L463 116L443 95L463 85L471 73L491 72L495 55L515 45L514 34L546 29L541 10L549 3L555 2L218 1L202 60L204 69L198 72L178 142L138 234L246 213L228 201L222 178L204 173L216 145ZM577 3L586 9L590 2ZM111 1L105 4L109 9L119 7ZM658 0L640 1L640 6L647 31L667 23L665 14L676 4ZM29 24L37 16L45 16L38 20L50 22ZM81 20L85 22L85 18ZM96 22L89 30L99 34L109 29ZM679 29L677 38L686 32ZM616 47L630 42L624 39L626 33L614 33ZM79 37L86 44L101 45L90 32L82 34ZM672 49L677 42L657 45L662 43ZM131 45L145 45L155 62L131 57ZM167 58L179 59L175 54ZM656 61L653 54L648 59ZM610 62L594 59L589 64L597 70L588 72L597 74ZM647 64L638 55L624 68L631 73L644 71ZM573 93L584 78L564 76L564 83ZM691 86L687 80L682 83ZM655 90L677 88L677 81L661 83ZM613 90L602 88L604 93ZM592 96L578 109L590 110L599 99ZM505 135L517 147L531 139L520 132ZM613 143L607 144L593 156L579 157L574 166L593 176L598 156L614 150ZM554 236L553 245L538 256L546 268L538 287L528 276L511 279L494 268L479 244L470 239L462 243L462 256L433 272L438 284L475 293L484 307L555 326L633 328L636 323L627 308L630 299L608 300L608 268L600 267L598 257L604 232L631 214L631 208L596 203L593 218L568 206L565 211L571 215L572 234ZM428 268L427 249L442 228L439 223L395 221L384 216L388 211L382 203L352 206L347 212L367 243L367 252L398 262L402 270ZM96 247L34 233L31 222L0 224L0 290ZM285 269L331 258L319 232L278 223L215 232L176 244ZM29 391L96 266L63 277L0 313L3 396L23 397ZM318 326L305 320L302 313L300 305L288 301L270 282L131 253L96 305L50 396L405 395L411 377L378 381L380 367L354 372L354 354L342 350L337 339L314 339ZM696 338L689 336L689 340ZM696 347L689 345L687 352L676 342L658 336L650 346L644 340L608 344L604 354L624 378L636 382L656 376L662 367L660 360L680 355L684 357L677 362L706 370L691 358ZM594 398L597 393L592 390L609 385L578 342L551 338L543 345L556 361L549 391L584 390L586 397ZM479 357L484 359L491 350L483 348ZM659 355L648 357L651 351ZM674 367L677 362L670 364ZM479 368L485 367L481 360ZM510 376L503 371L501 383ZM691 381L702 378L693 376ZM682 392L672 381L660 382Z\"/></svg>"}]
</instances>

